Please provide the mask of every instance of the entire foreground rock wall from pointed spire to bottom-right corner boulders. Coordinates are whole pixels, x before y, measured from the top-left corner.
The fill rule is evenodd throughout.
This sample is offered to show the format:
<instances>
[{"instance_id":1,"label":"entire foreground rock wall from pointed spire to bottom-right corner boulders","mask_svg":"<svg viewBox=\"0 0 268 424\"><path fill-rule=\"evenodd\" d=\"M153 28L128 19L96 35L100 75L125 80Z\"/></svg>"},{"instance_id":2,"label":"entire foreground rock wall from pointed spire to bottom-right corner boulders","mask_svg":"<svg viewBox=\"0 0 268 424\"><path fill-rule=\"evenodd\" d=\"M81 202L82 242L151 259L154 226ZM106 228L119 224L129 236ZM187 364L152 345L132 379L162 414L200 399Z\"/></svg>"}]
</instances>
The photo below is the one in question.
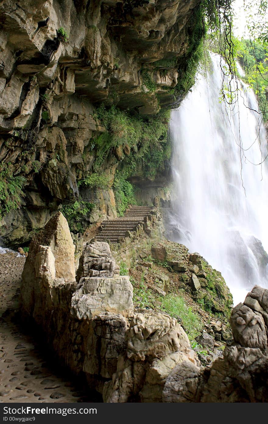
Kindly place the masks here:
<instances>
[{"instance_id":1,"label":"entire foreground rock wall from pointed spire to bottom-right corner boulders","mask_svg":"<svg viewBox=\"0 0 268 424\"><path fill-rule=\"evenodd\" d=\"M39 244L44 240L47 245ZM204 368L175 318L133 313L132 285L119 276L107 243L86 245L76 280L57 277L62 248L72 273L74 248L58 214L30 244L23 309L58 357L75 374L86 374L105 402L267 401L268 290L255 286L233 309L235 342Z\"/></svg>"}]
</instances>

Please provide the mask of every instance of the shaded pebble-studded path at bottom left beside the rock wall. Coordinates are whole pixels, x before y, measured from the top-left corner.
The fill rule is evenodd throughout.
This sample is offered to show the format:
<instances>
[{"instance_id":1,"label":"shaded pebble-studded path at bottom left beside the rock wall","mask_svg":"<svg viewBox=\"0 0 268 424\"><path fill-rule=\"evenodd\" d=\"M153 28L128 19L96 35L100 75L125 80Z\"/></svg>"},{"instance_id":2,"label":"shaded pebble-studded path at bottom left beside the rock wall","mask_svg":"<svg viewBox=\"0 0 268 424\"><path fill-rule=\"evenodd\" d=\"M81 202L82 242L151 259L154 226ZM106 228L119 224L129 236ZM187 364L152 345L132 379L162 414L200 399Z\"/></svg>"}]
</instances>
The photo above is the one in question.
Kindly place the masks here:
<instances>
[{"instance_id":1,"label":"shaded pebble-studded path at bottom left beside the rock wall","mask_svg":"<svg viewBox=\"0 0 268 424\"><path fill-rule=\"evenodd\" d=\"M25 257L0 254L0 402L98 402L19 322Z\"/></svg>"}]
</instances>

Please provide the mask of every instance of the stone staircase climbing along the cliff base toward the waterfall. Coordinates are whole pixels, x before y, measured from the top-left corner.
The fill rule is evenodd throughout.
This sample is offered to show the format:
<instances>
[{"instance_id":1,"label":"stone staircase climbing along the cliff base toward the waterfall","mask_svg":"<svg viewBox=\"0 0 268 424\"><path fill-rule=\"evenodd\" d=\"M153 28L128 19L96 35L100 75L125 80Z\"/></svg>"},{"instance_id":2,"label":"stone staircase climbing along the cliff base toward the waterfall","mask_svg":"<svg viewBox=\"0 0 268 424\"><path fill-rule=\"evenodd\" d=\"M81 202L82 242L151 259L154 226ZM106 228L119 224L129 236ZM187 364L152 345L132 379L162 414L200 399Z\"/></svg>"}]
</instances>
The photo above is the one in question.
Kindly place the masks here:
<instances>
[{"instance_id":1,"label":"stone staircase climbing along the cliff base toward the waterfall","mask_svg":"<svg viewBox=\"0 0 268 424\"><path fill-rule=\"evenodd\" d=\"M130 206L122 218L103 221L94 240L119 243L125 237L130 237L131 232L137 232L139 228L145 229L146 223L153 221L153 218L149 218L154 210L154 206Z\"/></svg>"}]
</instances>

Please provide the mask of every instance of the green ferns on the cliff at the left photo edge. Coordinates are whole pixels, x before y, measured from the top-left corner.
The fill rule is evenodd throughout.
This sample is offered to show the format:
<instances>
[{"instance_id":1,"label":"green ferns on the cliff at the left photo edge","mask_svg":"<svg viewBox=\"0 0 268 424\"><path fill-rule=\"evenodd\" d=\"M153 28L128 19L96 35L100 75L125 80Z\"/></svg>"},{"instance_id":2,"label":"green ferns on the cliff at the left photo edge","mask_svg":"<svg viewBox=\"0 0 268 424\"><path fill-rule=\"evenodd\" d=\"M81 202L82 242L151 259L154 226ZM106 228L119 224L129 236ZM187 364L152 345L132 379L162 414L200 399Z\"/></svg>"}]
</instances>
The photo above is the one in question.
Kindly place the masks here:
<instances>
[{"instance_id":1,"label":"green ferns on the cliff at the left photo edge","mask_svg":"<svg viewBox=\"0 0 268 424\"><path fill-rule=\"evenodd\" d=\"M25 196L22 189L27 180L22 176L13 176L10 165L8 162L0 168L0 216L20 208Z\"/></svg>"}]
</instances>

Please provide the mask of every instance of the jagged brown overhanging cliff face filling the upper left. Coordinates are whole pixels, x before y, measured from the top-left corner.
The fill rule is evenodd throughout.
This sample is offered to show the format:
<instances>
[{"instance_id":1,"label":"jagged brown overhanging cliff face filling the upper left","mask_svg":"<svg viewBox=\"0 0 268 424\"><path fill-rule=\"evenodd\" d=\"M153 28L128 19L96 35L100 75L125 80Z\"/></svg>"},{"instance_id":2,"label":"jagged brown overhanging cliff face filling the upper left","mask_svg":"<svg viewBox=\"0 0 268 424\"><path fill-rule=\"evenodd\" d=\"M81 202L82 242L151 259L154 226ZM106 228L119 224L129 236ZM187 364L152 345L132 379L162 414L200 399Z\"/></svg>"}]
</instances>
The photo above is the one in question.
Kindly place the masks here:
<instances>
[{"instance_id":1,"label":"jagged brown overhanging cliff face filling the upper left","mask_svg":"<svg viewBox=\"0 0 268 424\"><path fill-rule=\"evenodd\" d=\"M17 190L3 204L0 236L28 242L59 204L75 201L77 180L94 166L108 186L82 190L97 208L80 218L114 218L114 173L131 147L126 140L103 156L96 106L149 116L180 101L203 34L199 0L5 0L0 15L0 173L7 193Z\"/></svg>"}]
</instances>

